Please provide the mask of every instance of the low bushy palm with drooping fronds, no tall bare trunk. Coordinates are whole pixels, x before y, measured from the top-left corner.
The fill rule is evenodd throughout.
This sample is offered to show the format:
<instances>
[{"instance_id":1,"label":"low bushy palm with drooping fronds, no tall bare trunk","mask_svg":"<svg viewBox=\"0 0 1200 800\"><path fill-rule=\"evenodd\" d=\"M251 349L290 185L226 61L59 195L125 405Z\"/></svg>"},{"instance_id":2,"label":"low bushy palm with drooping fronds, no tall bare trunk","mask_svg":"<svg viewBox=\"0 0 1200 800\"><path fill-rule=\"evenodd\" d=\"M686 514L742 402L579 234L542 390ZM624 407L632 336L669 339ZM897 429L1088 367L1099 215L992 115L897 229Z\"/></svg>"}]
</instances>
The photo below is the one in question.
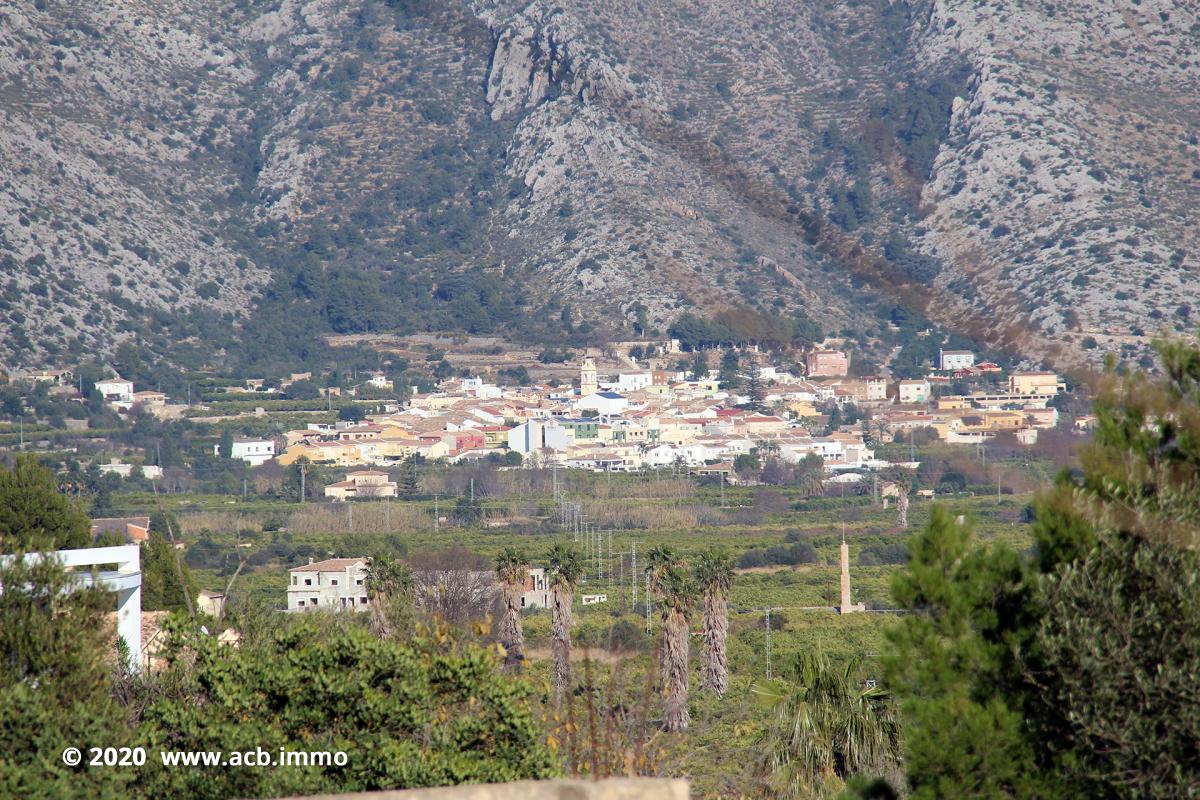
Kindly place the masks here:
<instances>
[{"instance_id":1,"label":"low bushy palm with drooping fronds, no tall bare trunk","mask_svg":"<svg viewBox=\"0 0 1200 800\"><path fill-rule=\"evenodd\" d=\"M773 784L772 796L811 798L853 772L896 764L900 726L887 693L859 680L860 663L852 658L839 669L803 651L785 679L751 688L775 711L756 764Z\"/></svg>"}]
</instances>

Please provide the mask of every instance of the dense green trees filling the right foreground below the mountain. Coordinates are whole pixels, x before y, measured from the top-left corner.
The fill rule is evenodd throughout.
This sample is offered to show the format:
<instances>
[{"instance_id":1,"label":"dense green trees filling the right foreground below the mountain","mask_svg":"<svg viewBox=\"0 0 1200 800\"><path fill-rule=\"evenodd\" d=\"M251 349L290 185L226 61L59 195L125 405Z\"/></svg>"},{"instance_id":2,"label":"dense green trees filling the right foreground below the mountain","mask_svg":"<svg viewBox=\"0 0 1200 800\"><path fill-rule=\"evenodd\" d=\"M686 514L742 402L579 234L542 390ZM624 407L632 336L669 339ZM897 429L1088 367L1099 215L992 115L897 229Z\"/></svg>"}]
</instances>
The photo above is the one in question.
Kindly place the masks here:
<instances>
[{"instance_id":1,"label":"dense green trees filling the right foreground below the mountain","mask_svg":"<svg viewBox=\"0 0 1200 800\"><path fill-rule=\"evenodd\" d=\"M888 676L913 796L1200 790L1200 351L1159 351L1165 378L1109 377L1032 558L946 511L911 543Z\"/></svg>"}]
</instances>

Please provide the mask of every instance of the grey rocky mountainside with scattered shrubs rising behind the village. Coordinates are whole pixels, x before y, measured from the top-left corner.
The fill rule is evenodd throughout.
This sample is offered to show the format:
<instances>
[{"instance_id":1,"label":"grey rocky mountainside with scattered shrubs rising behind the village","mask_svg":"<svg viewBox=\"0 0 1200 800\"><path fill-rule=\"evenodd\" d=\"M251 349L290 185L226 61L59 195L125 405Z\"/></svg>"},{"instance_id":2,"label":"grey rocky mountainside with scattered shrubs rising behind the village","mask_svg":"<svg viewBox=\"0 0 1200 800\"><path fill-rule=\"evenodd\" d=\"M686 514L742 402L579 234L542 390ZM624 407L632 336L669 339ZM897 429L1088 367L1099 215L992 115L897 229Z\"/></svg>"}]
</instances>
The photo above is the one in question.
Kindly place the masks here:
<instances>
[{"instance_id":1,"label":"grey rocky mountainside with scattered shrubs rising behind the village","mask_svg":"<svg viewBox=\"0 0 1200 800\"><path fill-rule=\"evenodd\" d=\"M1166 0L20 0L0 357L730 307L1134 356L1200 313L1198 96Z\"/></svg>"}]
</instances>

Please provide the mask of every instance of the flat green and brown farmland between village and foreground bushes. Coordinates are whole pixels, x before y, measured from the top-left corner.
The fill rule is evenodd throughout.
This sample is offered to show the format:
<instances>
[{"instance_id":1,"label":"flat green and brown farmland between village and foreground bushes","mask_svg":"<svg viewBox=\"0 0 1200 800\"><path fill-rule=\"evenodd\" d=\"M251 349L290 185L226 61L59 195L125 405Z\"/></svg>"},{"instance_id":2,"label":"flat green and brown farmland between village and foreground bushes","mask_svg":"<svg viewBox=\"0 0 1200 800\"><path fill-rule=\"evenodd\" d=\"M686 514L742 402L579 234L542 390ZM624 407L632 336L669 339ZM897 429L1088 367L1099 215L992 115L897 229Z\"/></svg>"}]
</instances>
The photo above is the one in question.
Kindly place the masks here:
<instances>
[{"instance_id":1,"label":"flat green and brown farmland between village and foreground bushes","mask_svg":"<svg viewBox=\"0 0 1200 800\"><path fill-rule=\"evenodd\" d=\"M865 486L808 497L800 487L721 486L667 470L632 476L430 464L418 491L395 500L299 504L262 495L128 493L113 503L120 512L169 512L197 587L222 591L232 578L234 618L241 620L277 620L264 612L284 606L288 569L310 559L389 554L413 565L491 570L505 548L542 566L551 546L576 547L587 555L587 571L576 593L572 658L576 680L592 691L576 692L572 720L560 709L548 711L557 708L550 612L530 609L522 620L527 674L544 694L547 735L562 742L569 765L576 751L581 759L606 747L636 751L646 759L640 769L688 776L697 796L728 796L752 781L746 753L760 750L756 740L770 715L752 691L757 684L786 674L802 652L859 660L864 679L880 674L887 630L900 614L892 578L935 501L972 519L980 539L1028 546L1032 494L1008 485L1036 486L1051 470L1022 462L997 469L1007 470L998 494L979 485L974 494L914 497L907 529L899 527L894 504L886 507ZM865 604L864 613L835 609L842 537L853 601ZM653 691L660 632L659 609L647 608L644 558L660 545L684 559L725 548L739 565L730 602L730 692L718 699L694 691L692 724L683 739L661 734L658 698L644 697ZM588 595L605 600L584 606ZM698 687L698 614L691 628L690 680ZM492 640L488 625L468 626L463 634ZM612 709L636 712L616 720ZM592 766L581 762L571 769L586 774Z\"/></svg>"}]
</instances>

